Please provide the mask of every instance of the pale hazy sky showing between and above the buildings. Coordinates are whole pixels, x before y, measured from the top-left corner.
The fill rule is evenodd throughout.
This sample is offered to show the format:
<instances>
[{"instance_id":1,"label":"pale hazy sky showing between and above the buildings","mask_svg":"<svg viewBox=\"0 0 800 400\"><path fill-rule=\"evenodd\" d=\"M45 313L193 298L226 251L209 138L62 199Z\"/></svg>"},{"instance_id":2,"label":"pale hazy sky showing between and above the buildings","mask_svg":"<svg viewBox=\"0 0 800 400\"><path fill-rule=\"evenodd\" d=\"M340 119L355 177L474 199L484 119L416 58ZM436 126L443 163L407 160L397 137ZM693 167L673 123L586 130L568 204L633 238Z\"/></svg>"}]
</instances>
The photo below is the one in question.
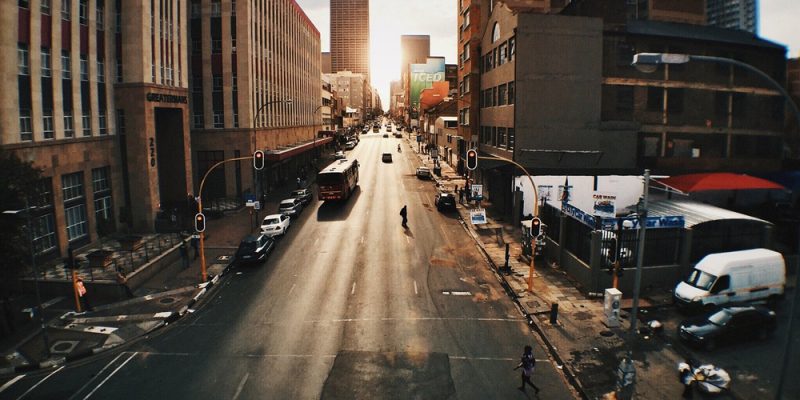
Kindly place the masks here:
<instances>
[{"instance_id":1,"label":"pale hazy sky showing between and above the buildings","mask_svg":"<svg viewBox=\"0 0 800 400\"><path fill-rule=\"evenodd\" d=\"M330 0L296 0L330 49ZM759 34L800 56L800 0L760 0ZM400 35L430 35L431 55L456 63L456 0L370 0L372 84L389 108L389 82L400 77Z\"/></svg>"}]
</instances>

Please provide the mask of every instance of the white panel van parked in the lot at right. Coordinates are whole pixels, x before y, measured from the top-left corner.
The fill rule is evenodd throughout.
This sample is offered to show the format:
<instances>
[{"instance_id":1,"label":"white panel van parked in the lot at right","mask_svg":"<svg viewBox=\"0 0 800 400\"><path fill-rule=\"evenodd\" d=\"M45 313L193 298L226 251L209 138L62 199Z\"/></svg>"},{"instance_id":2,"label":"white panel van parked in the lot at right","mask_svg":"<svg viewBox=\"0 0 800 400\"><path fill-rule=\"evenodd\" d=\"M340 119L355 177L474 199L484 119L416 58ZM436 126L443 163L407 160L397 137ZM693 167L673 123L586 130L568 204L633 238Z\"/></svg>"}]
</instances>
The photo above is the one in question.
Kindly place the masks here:
<instances>
[{"instance_id":1,"label":"white panel van parked in the lot at right","mask_svg":"<svg viewBox=\"0 0 800 400\"><path fill-rule=\"evenodd\" d=\"M783 297L786 264L768 249L709 254L675 287L678 306L707 307Z\"/></svg>"}]
</instances>

